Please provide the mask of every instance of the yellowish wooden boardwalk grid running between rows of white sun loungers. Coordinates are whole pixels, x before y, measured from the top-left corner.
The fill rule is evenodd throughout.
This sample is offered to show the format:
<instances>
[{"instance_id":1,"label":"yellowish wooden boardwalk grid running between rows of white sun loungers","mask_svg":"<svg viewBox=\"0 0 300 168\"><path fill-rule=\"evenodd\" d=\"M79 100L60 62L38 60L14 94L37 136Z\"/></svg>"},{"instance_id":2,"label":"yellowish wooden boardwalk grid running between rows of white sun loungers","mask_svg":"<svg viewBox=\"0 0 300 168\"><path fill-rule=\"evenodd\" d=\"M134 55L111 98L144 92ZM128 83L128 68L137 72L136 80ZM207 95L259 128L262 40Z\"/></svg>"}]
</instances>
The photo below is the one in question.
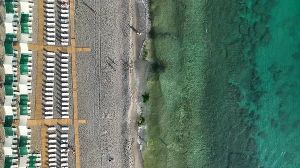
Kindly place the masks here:
<instances>
[{"instance_id":1,"label":"yellowish wooden boardwalk grid running between rows of white sun loungers","mask_svg":"<svg viewBox=\"0 0 300 168\"><path fill-rule=\"evenodd\" d=\"M55 124L74 124L75 135L75 157L76 167L80 167L80 148L79 148L79 133L78 123L85 123L85 119L78 119L77 109L77 80L76 80L76 52L89 52L90 48L75 47L75 19L74 19L74 0L70 0L70 28L71 28L71 46L46 46L44 45L44 1L38 2L38 44L29 44L29 50L37 51L37 86L36 86L36 105L35 119L28 119L27 125L41 125L41 152L42 152L42 167L48 166L47 155L47 125ZM44 52L59 52L70 53L72 59L72 83L73 83L73 119L71 118L55 118L41 119L42 117L42 85L43 85L43 54ZM14 124L18 124L18 120Z\"/></svg>"}]
</instances>

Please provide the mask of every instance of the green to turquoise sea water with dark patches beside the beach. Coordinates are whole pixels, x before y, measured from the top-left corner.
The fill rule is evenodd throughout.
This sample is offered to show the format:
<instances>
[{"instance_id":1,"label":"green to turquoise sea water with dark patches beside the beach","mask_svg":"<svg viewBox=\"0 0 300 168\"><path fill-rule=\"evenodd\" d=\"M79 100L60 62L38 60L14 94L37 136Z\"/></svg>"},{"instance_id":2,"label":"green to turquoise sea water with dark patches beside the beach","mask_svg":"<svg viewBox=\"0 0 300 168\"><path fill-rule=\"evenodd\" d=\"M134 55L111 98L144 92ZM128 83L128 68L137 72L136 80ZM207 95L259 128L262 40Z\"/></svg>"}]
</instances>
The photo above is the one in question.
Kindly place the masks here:
<instances>
[{"instance_id":1,"label":"green to turquoise sea water with dark patches beside the beach","mask_svg":"<svg viewBox=\"0 0 300 168\"><path fill-rule=\"evenodd\" d=\"M300 167L300 1L156 0L151 16L144 166Z\"/></svg>"}]
</instances>

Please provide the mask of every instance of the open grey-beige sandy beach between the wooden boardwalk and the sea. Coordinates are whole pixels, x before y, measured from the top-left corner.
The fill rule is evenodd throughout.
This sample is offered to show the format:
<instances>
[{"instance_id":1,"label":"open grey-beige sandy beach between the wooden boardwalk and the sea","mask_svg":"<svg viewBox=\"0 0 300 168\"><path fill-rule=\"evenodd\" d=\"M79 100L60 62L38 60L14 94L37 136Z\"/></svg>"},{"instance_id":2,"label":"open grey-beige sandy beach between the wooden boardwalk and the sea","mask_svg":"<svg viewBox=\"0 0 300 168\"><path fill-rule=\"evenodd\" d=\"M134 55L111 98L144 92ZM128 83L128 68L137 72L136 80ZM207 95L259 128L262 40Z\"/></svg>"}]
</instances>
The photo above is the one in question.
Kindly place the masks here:
<instances>
[{"instance_id":1,"label":"open grey-beige sandy beach between the wooden boardwalk and the sea","mask_svg":"<svg viewBox=\"0 0 300 168\"><path fill-rule=\"evenodd\" d=\"M136 7L117 0L85 3L98 14L75 2L76 46L92 50L76 55L78 113L87 119L79 125L81 166L141 167L129 67L137 57L133 44L140 40L131 38L128 26Z\"/></svg>"}]
</instances>

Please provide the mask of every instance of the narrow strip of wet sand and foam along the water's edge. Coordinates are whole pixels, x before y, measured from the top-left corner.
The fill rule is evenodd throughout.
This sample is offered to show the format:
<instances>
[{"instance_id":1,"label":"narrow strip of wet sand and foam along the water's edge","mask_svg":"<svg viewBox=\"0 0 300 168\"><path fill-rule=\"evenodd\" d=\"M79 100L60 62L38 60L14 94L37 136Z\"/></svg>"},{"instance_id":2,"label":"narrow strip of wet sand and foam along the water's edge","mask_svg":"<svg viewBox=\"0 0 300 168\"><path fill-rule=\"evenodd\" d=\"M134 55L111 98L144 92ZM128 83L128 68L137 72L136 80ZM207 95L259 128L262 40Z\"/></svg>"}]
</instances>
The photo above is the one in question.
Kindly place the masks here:
<instances>
[{"instance_id":1,"label":"narrow strip of wet sand and foam along the water's edge","mask_svg":"<svg viewBox=\"0 0 300 168\"><path fill-rule=\"evenodd\" d=\"M145 5L145 4L143 4ZM139 7L139 3L135 0L130 1L131 15L130 24L142 31L142 35L138 36L133 31L130 31L131 55L129 63L133 66L132 72L129 75L129 86L131 91L131 105L129 107L128 127L129 127L129 141L131 142L130 150L130 167L140 168L143 167L143 157L141 146L143 145L140 140L141 128L138 128L136 121L141 114L142 99L139 97L141 93L146 91L145 70L147 61L140 60L140 53L143 48L143 43L148 34L147 30L147 11L146 8ZM145 14L145 15L144 15ZM143 23L145 21L145 23ZM143 66L140 66L143 65ZM142 75L141 75L142 72ZM144 72L144 73L143 73ZM144 108L145 110L145 108Z\"/></svg>"}]
</instances>

